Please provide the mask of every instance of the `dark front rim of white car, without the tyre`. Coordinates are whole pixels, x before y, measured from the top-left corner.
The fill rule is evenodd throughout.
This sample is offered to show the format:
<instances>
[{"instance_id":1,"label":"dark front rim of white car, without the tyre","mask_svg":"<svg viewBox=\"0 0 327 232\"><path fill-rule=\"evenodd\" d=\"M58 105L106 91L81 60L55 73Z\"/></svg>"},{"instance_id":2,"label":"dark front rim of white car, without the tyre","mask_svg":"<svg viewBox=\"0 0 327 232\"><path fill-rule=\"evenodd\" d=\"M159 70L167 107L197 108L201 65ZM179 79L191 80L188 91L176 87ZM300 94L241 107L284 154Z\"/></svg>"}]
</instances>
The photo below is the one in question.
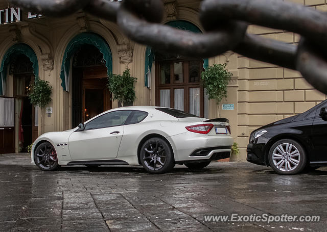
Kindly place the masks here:
<instances>
[{"instance_id":1,"label":"dark front rim of white car, without the tyre","mask_svg":"<svg viewBox=\"0 0 327 232\"><path fill-rule=\"evenodd\" d=\"M44 144L36 153L36 163L43 169L51 169L57 162L57 153L50 144Z\"/></svg>"}]
</instances>

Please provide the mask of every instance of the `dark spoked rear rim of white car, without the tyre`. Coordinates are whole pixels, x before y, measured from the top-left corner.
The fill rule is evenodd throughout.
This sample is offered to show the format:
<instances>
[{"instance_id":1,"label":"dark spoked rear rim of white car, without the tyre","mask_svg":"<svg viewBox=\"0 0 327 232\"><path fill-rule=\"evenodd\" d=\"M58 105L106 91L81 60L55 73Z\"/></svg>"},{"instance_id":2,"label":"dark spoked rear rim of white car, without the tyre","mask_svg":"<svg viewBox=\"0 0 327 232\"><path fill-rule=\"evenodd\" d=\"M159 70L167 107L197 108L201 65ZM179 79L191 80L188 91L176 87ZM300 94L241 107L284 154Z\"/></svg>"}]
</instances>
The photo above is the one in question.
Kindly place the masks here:
<instances>
[{"instance_id":1,"label":"dark spoked rear rim of white car, without the tyre","mask_svg":"<svg viewBox=\"0 0 327 232\"><path fill-rule=\"evenodd\" d=\"M167 161L166 148L158 141L151 141L144 147L143 162L150 170L160 170Z\"/></svg>"}]
</instances>

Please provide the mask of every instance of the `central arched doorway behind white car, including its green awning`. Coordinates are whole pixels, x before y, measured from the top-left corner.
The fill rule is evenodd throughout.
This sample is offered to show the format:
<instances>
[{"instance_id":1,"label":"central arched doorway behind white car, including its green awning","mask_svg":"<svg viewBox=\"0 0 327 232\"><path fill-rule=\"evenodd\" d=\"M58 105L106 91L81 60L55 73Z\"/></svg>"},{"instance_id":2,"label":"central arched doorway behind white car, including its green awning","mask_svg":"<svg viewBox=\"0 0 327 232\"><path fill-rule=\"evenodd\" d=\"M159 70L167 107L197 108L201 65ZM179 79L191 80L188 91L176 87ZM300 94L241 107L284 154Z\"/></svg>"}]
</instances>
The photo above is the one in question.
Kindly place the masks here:
<instances>
[{"instance_id":1,"label":"central arched doorway behind white car, including its green awning","mask_svg":"<svg viewBox=\"0 0 327 232\"><path fill-rule=\"evenodd\" d=\"M107 76L112 55L105 39L95 33L80 33L64 51L60 79L71 96L71 126L111 109Z\"/></svg>"}]
</instances>

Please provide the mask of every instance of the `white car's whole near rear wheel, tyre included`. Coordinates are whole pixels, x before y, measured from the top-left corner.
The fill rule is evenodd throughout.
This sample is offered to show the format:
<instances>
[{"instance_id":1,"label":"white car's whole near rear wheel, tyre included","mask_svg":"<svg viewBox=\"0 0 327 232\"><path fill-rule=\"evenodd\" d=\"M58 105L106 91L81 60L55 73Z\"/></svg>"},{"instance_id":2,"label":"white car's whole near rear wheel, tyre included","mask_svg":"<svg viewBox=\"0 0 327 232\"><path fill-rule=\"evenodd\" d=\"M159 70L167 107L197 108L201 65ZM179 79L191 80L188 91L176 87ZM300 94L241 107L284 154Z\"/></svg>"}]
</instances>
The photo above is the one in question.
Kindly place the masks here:
<instances>
[{"instance_id":1,"label":"white car's whole near rear wheel, tyre included","mask_svg":"<svg viewBox=\"0 0 327 232\"><path fill-rule=\"evenodd\" d=\"M140 158L143 167L153 174L168 172L175 166L173 151L161 138L148 139L141 148Z\"/></svg>"}]
</instances>

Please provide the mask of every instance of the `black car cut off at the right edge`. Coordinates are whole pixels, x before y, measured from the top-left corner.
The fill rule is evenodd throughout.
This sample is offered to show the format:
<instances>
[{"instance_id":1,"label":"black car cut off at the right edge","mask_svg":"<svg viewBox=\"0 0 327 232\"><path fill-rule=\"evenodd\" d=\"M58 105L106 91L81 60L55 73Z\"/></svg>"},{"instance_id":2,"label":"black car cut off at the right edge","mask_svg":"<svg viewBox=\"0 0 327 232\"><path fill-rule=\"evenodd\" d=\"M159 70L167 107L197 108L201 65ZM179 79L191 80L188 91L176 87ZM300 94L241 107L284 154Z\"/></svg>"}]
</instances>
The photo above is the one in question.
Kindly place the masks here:
<instances>
[{"instance_id":1,"label":"black car cut off at the right edge","mask_svg":"<svg viewBox=\"0 0 327 232\"><path fill-rule=\"evenodd\" d=\"M327 166L327 100L253 131L247 161L271 166L279 174Z\"/></svg>"}]
</instances>

